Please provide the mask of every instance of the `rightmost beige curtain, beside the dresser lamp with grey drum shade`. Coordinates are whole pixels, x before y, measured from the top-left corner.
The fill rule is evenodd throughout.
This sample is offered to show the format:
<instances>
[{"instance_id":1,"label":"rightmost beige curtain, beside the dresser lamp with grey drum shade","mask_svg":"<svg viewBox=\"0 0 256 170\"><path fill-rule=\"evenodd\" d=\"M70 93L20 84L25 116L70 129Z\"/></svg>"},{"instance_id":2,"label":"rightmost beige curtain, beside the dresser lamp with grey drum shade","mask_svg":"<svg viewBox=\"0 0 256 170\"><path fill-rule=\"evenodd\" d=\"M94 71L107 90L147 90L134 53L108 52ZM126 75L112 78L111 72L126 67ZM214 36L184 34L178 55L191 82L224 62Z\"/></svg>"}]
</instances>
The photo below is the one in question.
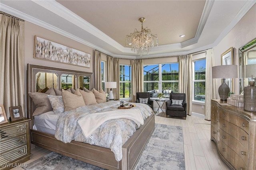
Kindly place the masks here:
<instances>
[{"instance_id":1,"label":"rightmost beige curtain, beside the dresser lamp with grey drum shade","mask_svg":"<svg viewBox=\"0 0 256 170\"><path fill-rule=\"evenodd\" d=\"M206 51L205 75L205 119L211 120L211 100L216 99L216 80L212 79L212 67L215 66L214 50Z\"/></svg>"}]
</instances>

